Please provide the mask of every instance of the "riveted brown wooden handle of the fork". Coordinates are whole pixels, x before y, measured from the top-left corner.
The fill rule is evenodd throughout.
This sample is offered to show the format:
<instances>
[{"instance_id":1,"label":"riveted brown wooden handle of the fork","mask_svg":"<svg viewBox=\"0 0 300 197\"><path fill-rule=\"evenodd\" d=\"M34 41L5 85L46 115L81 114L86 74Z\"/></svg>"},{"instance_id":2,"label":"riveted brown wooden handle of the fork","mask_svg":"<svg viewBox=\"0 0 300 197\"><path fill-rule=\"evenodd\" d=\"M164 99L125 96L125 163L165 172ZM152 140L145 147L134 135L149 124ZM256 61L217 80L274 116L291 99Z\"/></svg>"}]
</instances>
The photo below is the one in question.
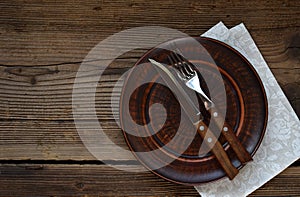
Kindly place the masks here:
<instances>
[{"instance_id":1,"label":"riveted brown wooden handle of the fork","mask_svg":"<svg viewBox=\"0 0 300 197\"><path fill-rule=\"evenodd\" d=\"M240 160L242 164L245 164L249 161L252 161L251 155L248 153L248 151L245 149L245 147L241 144L240 140L237 138L235 133L233 132L232 127L224 123L224 117L222 114L218 113L217 109L215 107L212 107L209 109L211 113L212 119L215 121L218 128L221 130L223 136L226 138L228 143L230 144L231 148L235 152L237 158ZM223 125L224 123L224 125Z\"/></svg>"}]
</instances>

